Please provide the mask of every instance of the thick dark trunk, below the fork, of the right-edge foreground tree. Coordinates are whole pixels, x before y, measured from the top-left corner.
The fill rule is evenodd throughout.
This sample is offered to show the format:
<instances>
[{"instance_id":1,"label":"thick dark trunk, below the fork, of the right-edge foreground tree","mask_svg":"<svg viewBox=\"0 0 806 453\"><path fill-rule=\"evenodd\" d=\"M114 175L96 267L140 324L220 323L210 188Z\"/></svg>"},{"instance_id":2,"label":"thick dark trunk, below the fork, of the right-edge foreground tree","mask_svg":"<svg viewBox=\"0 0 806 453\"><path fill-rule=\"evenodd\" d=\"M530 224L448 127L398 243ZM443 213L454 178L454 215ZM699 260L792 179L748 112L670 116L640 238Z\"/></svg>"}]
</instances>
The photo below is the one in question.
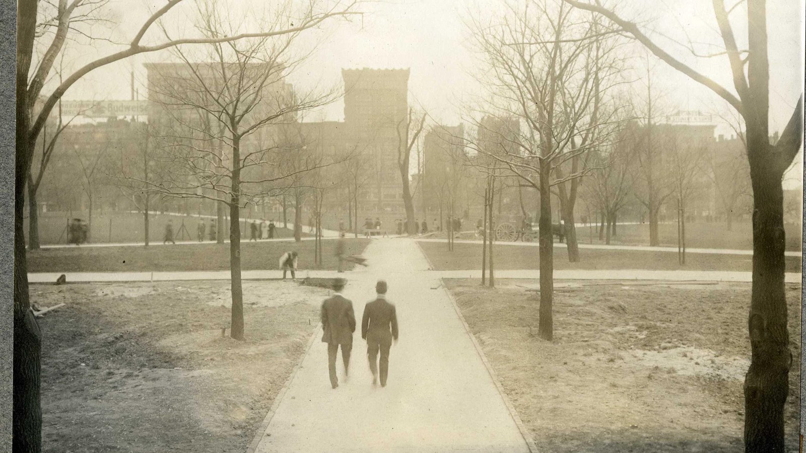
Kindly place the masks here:
<instances>
[{"instance_id":1,"label":"thick dark trunk, below the fork, of the right-edge foreground tree","mask_svg":"<svg viewBox=\"0 0 806 453\"><path fill-rule=\"evenodd\" d=\"M771 166L767 137L751 139L753 185L753 289L750 298L750 369L745 376L745 451L783 452L783 407L789 393L787 300L784 290L783 189ZM764 147L764 148L762 148ZM767 160L766 162L762 160Z\"/></svg>"}]
</instances>

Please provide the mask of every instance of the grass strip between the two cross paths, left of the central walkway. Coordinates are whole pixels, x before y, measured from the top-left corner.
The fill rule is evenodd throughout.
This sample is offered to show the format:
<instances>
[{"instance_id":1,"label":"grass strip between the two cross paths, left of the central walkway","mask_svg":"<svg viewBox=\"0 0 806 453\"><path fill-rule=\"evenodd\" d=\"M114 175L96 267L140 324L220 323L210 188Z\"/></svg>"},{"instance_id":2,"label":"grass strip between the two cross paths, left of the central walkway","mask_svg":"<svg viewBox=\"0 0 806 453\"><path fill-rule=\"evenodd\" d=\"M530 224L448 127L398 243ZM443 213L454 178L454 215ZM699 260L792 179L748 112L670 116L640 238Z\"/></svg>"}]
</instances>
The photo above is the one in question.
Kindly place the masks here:
<instances>
[{"instance_id":1,"label":"grass strip between the two cross paths, left of the central walkway","mask_svg":"<svg viewBox=\"0 0 806 453\"><path fill-rule=\"evenodd\" d=\"M371 239L347 238L347 254L360 255ZM322 241L321 269L335 269L335 239ZM314 241L300 243L242 242L243 270L276 269L277 260L285 251L299 252L298 267L314 268ZM156 247L64 247L29 251L29 272L160 272L160 271L219 271L230 268L229 243L198 243L160 245ZM350 265L347 265L347 268Z\"/></svg>"}]
</instances>

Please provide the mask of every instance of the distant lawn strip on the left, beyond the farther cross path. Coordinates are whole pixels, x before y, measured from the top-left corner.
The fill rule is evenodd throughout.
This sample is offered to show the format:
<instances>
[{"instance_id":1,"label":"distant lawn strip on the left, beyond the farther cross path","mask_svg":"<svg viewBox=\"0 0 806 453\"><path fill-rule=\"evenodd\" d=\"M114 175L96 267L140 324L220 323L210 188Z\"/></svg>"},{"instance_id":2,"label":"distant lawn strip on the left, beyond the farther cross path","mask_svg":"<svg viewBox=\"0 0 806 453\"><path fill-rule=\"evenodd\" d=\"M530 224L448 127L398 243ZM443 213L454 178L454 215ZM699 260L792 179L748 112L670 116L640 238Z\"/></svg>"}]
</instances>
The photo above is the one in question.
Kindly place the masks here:
<instances>
[{"instance_id":1,"label":"distant lawn strip on the left, beyond the farther cross path","mask_svg":"<svg viewBox=\"0 0 806 453\"><path fill-rule=\"evenodd\" d=\"M70 214L73 214L72 217ZM88 220L88 213L84 212L48 212L39 215L39 241L43 245L55 243L67 243L67 233L65 227L70 218L83 218ZM174 239L198 239L197 238L197 217L181 217L170 214L149 214L148 215L148 240L151 242L162 242L165 233L165 225L168 220L173 223ZM268 222L268 219L266 221ZM185 222L186 235L181 231L182 222ZM210 219L204 219L206 227L210 227ZM282 228L282 214L280 218L274 218L277 227L275 237L290 238L294 233L292 230ZM292 218L293 221L293 218ZM111 230L110 230L111 222ZM227 225L229 223L227 222ZM303 231L306 231L303 229ZM89 231L90 242L93 243L142 243L143 242L143 214L119 212L119 211L97 211L93 212L93 224ZM28 234L28 222L25 222L25 234ZM209 234L205 231L205 236ZM241 221L241 235L248 238L249 225L244 227ZM303 232L303 236L311 236ZM205 239L207 239L205 237Z\"/></svg>"}]
</instances>

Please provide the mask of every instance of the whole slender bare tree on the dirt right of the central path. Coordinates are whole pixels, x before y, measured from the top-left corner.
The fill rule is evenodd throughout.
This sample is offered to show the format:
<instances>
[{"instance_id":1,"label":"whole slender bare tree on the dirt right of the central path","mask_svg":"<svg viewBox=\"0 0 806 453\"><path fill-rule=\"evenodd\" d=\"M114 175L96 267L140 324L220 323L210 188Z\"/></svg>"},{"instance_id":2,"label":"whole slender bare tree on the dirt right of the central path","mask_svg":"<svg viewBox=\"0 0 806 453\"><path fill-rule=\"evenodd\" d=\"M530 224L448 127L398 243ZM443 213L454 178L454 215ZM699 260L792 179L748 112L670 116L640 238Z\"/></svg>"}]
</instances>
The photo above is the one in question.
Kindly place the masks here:
<instances>
[{"instance_id":1,"label":"whole slender bare tree on the dirt right of the central path","mask_svg":"<svg viewBox=\"0 0 806 453\"><path fill-rule=\"evenodd\" d=\"M538 333L548 340L553 336L554 293L551 188L591 171L573 165L570 172L558 168L597 148L609 135L605 129L612 117L593 113L605 87L592 70L596 42L612 33L584 19L563 2L545 0L527 2L522 9L509 6L500 23L472 24L488 74L486 85L499 100L487 110L495 121L472 122L487 136L480 142L498 146L468 146L486 158L488 171L517 177L540 193Z\"/></svg>"}]
</instances>

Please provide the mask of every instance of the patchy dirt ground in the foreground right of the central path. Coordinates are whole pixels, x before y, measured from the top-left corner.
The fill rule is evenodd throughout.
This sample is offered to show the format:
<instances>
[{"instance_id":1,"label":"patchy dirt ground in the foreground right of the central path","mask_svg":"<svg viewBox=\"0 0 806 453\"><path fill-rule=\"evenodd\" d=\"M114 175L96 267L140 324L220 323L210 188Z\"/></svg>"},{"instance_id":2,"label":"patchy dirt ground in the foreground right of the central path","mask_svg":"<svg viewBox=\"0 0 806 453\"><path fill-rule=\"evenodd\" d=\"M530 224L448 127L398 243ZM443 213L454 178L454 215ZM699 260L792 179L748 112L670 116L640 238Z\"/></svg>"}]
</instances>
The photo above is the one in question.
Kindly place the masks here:
<instances>
[{"instance_id":1,"label":"patchy dirt ground in the foreground right of the central path","mask_svg":"<svg viewBox=\"0 0 806 453\"><path fill-rule=\"evenodd\" d=\"M750 284L555 283L553 342L537 337L538 281L447 280L538 451L742 451ZM599 282L605 283L605 282ZM800 357L800 285L787 285ZM791 368L788 451L799 441Z\"/></svg>"}]
</instances>

